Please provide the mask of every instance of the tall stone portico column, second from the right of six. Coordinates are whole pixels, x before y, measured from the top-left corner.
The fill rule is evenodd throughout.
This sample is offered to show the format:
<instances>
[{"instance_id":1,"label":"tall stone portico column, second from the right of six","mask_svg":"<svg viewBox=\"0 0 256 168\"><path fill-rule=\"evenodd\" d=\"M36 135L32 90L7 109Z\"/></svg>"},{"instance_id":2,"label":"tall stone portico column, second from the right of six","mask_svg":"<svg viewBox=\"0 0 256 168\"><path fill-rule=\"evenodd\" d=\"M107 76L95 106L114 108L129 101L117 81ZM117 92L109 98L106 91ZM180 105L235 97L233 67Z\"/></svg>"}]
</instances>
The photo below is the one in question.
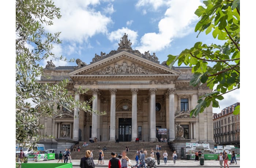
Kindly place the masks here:
<instances>
[{"instance_id":1,"label":"tall stone portico column, second from the right of six","mask_svg":"<svg viewBox=\"0 0 256 168\"><path fill-rule=\"evenodd\" d=\"M156 138L155 128L155 93L157 89L149 89L150 93L150 142L154 142Z\"/></svg>"}]
</instances>

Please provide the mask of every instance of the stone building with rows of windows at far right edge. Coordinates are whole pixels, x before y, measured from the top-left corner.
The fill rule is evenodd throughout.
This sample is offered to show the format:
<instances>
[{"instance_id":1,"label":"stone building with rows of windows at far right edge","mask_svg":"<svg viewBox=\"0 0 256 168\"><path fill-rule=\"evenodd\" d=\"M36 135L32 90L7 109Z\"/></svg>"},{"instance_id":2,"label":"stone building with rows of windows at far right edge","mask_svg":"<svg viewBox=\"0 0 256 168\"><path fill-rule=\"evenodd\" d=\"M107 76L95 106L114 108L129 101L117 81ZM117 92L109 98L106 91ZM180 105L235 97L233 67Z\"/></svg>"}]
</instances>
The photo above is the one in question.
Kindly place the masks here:
<instances>
[{"instance_id":1,"label":"stone building with rows of windows at far right edge","mask_svg":"<svg viewBox=\"0 0 256 168\"><path fill-rule=\"evenodd\" d=\"M214 141L218 145L235 145L240 148L240 115L233 111L240 103L234 103L213 115Z\"/></svg>"}]
</instances>

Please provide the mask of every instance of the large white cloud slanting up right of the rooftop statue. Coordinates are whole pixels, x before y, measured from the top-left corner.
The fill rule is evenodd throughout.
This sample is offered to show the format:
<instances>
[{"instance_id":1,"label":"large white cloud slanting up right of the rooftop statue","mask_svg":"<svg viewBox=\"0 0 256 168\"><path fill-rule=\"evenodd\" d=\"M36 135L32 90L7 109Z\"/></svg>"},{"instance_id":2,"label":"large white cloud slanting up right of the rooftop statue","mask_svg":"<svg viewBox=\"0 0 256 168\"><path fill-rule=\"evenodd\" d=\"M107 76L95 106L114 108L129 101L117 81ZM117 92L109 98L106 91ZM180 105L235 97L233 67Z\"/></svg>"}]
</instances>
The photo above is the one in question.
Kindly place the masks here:
<instances>
[{"instance_id":1,"label":"large white cloud slanting up right of the rooftop statue","mask_svg":"<svg viewBox=\"0 0 256 168\"><path fill-rule=\"evenodd\" d=\"M148 2L151 3L151 1ZM174 38L184 37L192 31L189 26L198 19L194 12L201 5L200 0L172 0L166 5L169 5L169 8L166 10L164 18L158 23L159 32L143 35L140 39L140 46L136 47L140 52L163 50L170 46Z\"/></svg>"}]
</instances>

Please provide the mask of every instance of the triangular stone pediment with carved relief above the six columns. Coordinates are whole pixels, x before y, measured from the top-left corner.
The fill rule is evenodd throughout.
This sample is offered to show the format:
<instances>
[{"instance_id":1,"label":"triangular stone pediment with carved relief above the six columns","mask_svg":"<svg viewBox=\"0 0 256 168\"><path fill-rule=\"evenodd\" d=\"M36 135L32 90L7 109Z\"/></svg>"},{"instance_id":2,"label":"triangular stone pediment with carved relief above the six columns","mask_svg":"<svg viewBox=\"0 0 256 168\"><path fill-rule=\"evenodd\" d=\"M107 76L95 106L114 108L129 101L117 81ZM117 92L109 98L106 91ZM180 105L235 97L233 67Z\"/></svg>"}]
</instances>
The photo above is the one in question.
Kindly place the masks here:
<instances>
[{"instance_id":1,"label":"triangular stone pediment with carved relief above the six columns","mask_svg":"<svg viewBox=\"0 0 256 168\"><path fill-rule=\"evenodd\" d=\"M127 75L174 75L180 72L170 69L128 51L121 51L100 61L69 73L69 76L127 76Z\"/></svg>"}]
</instances>

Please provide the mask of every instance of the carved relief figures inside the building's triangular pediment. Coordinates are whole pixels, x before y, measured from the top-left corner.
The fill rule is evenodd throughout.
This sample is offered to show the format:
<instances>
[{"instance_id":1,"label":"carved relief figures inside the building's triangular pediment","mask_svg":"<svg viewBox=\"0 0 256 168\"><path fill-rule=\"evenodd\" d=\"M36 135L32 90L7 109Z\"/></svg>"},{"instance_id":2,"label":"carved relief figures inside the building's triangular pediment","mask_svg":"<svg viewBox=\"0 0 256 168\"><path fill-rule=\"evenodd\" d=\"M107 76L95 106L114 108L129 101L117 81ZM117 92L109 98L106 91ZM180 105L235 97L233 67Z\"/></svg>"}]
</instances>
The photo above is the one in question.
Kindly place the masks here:
<instances>
[{"instance_id":1,"label":"carved relief figures inside the building's triangular pediment","mask_svg":"<svg viewBox=\"0 0 256 168\"><path fill-rule=\"evenodd\" d=\"M127 62L124 61L122 65L115 64L114 67L108 66L105 69L102 69L101 71L97 72L96 75L117 73L150 74L148 69L145 70L140 66L135 66L135 64L129 66Z\"/></svg>"}]
</instances>

